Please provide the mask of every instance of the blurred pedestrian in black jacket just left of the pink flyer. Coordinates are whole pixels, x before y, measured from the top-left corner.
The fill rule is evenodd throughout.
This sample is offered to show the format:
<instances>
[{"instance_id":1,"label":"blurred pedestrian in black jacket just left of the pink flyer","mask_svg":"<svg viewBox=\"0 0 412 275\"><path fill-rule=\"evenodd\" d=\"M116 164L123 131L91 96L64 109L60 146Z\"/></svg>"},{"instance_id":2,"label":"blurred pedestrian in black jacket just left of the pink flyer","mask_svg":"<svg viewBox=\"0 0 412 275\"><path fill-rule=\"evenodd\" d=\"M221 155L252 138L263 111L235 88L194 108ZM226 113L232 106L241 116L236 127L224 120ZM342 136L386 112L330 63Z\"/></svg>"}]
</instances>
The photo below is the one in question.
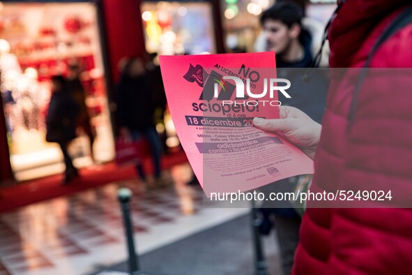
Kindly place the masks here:
<instances>
[{"instance_id":1,"label":"blurred pedestrian in black jacket just left of the pink flyer","mask_svg":"<svg viewBox=\"0 0 412 275\"><path fill-rule=\"evenodd\" d=\"M118 87L117 116L120 134L135 141L146 138L151 147L155 182L160 184L161 146L155 129L154 112L153 87L144 62L138 57L130 58L123 68ZM142 163L138 163L136 169L140 178L146 181Z\"/></svg>"}]
</instances>

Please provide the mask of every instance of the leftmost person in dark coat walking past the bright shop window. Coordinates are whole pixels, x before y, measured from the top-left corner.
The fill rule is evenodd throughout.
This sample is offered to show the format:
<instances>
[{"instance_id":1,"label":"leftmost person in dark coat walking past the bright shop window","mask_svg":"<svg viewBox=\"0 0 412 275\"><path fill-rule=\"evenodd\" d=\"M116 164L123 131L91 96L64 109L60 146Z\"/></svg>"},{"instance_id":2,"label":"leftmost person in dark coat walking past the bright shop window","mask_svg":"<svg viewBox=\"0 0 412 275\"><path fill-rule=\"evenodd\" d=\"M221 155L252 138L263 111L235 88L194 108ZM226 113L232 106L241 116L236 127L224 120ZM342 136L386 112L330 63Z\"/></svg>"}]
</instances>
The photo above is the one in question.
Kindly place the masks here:
<instances>
[{"instance_id":1,"label":"leftmost person in dark coat walking past the bright shop window","mask_svg":"<svg viewBox=\"0 0 412 275\"><path fill-rule=\"evenodd\" d=\"M61 75L52 77L52 98L46 117L46 140L60 145L66 165L63 181L65 184L79 175L68 154L68 144L76 137L75 117L78 112L79 106L68 91L66 79Z\"/></svg>"}]
</instances>

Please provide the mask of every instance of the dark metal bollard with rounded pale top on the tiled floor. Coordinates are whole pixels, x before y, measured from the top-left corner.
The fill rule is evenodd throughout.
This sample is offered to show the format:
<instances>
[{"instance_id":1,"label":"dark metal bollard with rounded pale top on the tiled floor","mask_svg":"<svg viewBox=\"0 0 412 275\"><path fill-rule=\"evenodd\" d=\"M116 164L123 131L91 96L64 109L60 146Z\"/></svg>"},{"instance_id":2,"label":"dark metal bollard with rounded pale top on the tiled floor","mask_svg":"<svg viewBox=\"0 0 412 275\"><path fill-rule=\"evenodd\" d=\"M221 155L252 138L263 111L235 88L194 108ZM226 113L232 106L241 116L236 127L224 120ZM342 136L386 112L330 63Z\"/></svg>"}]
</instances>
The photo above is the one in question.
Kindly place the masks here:
<instances>
[{"instance_id":1,"label":"dark metal bollard with rounded pale top on the tiled floor","mask_svg":"<svg viewBox=\"0 0 412 275\"><path fill-rule=\"evenodd\" d=\"M137 275L139 274L139 260L137 259L132 221L130 218L130 198L132 197L132 191L130 191L129 188L120 188L119 191L117 191L117 197L121 202L121 210L123 212L125 234L128 244L129 272L131 275Z\"/></svg>"}]
</instances>

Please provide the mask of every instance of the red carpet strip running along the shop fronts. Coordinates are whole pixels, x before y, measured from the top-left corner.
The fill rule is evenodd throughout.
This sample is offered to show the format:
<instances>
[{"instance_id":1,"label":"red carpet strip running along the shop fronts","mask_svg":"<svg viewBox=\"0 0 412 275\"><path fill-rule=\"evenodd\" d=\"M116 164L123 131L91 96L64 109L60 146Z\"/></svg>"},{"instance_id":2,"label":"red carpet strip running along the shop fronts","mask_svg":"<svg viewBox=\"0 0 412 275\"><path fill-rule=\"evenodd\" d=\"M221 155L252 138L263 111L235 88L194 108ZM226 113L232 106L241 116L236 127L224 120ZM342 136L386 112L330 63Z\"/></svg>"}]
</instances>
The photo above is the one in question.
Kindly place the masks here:
<instances>
[{"instance_id":1,"label":"red carpet strip running along the shop fronts","mask_svg":"<svg viewBox=\"0 0 412 275\"><path fill-rule=\"evenodd\" d=\"M171 168L173 165L188 161L184 151L179 151L162 158L162 168ZM151 171L151 160L144 161L146 170ZM62 185L63 175L54 175L33 181L26 181L16 186L0 189L0 213L13 210L17 207L30 205L34 202L56 198L61 195L70 195L88 188L102 186L113 181L136 179L137 172L132 165L119 167L115 163L102 165L98 170L84 168L80 170L80 177L73 183Z\"/></svg>"}]
</instances>

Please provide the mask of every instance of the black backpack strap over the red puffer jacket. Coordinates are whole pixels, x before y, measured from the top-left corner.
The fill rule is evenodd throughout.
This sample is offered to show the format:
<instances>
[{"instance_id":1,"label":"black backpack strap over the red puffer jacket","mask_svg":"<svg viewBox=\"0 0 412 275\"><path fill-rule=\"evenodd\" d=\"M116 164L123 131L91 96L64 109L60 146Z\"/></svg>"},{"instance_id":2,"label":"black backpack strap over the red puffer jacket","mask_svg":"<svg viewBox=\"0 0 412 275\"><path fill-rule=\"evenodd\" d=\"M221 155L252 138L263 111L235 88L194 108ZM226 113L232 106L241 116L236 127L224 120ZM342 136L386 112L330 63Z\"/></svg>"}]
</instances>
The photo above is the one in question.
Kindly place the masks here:
<instances>
[{"instance_id":1,"label":"black backpack strap over the red puffer jacket","mask_svg":"<svg viewBox=\"0 0 412 275\"><path fill-rule=\"evenodd\" d=\"M374 55L379 50L379 47L381 47L381 45L386 42L386 40L388 40L391 36L397 33L397 31L403 29L404 27L406 27L407 25L411 23L412 23L412 6L402 11L402 13L398 17L396 17L395 20L393 20L389 24L388 27L386 27L386 29L383 31L381 36L376 41L375 45L372 47L369 57L367 57L365 65L363 66L363 69L360 71L358 82L356 83L355 91L353 92L351 109L349 110L348 129L350 129L353 124L358 94L359 94L360 88L362 87L363 80L365 80L365 77L367 75L367 70L370 64L372 63L372 59L374 58Z\"/></svg>"}]
</instances>

